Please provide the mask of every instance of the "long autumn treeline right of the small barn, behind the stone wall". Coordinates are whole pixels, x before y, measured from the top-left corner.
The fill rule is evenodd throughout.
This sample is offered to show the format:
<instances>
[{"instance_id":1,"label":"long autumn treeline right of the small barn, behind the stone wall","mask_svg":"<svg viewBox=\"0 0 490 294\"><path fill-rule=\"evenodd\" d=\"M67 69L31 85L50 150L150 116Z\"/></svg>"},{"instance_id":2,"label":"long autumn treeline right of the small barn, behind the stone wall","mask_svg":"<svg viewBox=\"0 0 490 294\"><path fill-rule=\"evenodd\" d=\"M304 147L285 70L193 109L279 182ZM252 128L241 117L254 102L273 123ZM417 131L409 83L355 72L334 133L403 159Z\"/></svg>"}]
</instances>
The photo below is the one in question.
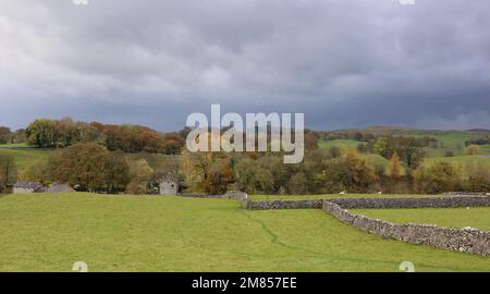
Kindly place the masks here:
<instances>
[{"instance_id":1,"label":"long autumn treeline right of the small barn, behind the stone wall","mask_svg":"<svg viewBox=\"0 0 490 294\"><path fill-rule=\"evenodd\" d=\"M356 150L308 150L301 164L283 164L275 154L184 152L183 173L195 192L250 194L489 192L485 166L458 168L440 161L409 169L393 154L388 167L371 166Z\"/></svg>"}]
</instances>

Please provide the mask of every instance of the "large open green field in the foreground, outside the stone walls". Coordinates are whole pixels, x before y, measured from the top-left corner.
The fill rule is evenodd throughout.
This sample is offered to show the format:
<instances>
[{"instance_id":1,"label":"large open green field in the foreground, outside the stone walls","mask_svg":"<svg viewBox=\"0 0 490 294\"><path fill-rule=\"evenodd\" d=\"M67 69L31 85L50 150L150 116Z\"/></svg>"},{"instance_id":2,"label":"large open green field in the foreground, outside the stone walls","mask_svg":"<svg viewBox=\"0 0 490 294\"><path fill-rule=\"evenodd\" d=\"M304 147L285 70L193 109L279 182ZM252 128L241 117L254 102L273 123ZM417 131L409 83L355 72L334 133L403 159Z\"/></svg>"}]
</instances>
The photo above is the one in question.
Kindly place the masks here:
<instances>
[{"instance_id":1,"label":"large open green field in the foreground, outside the stone walls","mask_svg":"<svg viewBox=\"0 0 490 294\"><path fill-rule=\"evenodd\" d=\"M321 210L93 194L0 197L0 271L490 271L490 259L385 241Z\"/></svg>"}]
</instances>

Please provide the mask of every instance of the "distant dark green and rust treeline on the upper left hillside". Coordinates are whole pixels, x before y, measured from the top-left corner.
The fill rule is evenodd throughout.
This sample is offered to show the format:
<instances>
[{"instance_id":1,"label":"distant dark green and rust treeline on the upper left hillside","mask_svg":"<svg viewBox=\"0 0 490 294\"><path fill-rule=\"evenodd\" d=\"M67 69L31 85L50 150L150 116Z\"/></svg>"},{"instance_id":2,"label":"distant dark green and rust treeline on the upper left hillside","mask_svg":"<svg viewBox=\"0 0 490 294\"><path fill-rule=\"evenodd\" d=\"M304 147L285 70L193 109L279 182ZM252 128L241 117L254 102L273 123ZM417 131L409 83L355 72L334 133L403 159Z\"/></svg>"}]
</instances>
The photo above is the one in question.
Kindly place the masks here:
<instances>
[{"instance_id":1,"label":"distant dark green and rust treeline on the upper left hillside","mask_svg":"<svg viewBox=\"0 0 490 294\"><path fill-rule=\"evenodd\" d=\"M161 134L140 125L115 125L99 122L36 120L25 131L27 143L38 148L66 148L75 144L96 143L109 150L176 155L184 138L176 133Z\"/></svg>"}]
</instances>

